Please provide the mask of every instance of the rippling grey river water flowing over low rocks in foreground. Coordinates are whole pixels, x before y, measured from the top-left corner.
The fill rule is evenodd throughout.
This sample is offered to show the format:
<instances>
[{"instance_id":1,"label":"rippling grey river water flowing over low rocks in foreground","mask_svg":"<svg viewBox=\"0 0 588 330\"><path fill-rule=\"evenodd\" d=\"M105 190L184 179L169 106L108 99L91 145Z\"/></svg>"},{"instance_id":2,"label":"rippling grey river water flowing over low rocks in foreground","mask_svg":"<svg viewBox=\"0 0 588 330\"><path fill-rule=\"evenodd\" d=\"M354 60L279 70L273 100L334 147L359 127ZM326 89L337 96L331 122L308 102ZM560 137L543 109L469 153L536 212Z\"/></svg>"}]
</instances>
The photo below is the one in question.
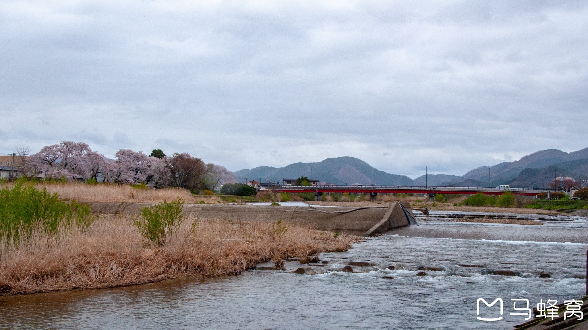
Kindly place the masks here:
<instances>
[{"instance_id":1,"label":"rippling grey river water flowing over low rocks in foreground","mask_svg":"<svg viewBox=\"0 0 588 330\"><path fill-rule=\"evenodd\" d=\"M582 228L584 223L549 226ZM452 225L465 224L445 224ZM517 231L525 226L502 227ZM316 275L255 270L213 280L181 278L126 288L0 297L0 328L512 329L525 316L510 315L510 299L529 299L532 308L539 299L562 303L583 297L586 247L383 235L354 244L347 252L321 254L329 263L313 264ZM349 261L375 265L342 272ZM388 270L389 265L396 270ZM443 269L416 276L421 265ZM298 266L286 263L286 268ZM497 269L521 275L487 275ZM551 271L552 278L540 278L542 271ZM502 298L503 319L477 320L477 298L489 303ZM480 307L480 316L498 315L496 307Z\"/></svg>"}]
</instances>

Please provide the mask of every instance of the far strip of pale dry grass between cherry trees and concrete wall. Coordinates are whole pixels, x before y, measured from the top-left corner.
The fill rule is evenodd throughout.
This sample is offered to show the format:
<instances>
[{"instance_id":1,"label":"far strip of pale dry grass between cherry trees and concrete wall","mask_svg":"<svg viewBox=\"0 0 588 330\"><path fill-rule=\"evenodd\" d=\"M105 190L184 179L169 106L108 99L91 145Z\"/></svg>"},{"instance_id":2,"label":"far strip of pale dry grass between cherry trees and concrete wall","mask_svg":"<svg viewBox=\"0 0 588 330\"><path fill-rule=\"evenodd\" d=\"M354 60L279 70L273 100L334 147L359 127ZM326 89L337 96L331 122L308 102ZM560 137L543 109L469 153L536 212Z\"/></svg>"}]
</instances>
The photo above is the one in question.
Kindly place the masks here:
<instances>
[{"instance_id":1,"label":"far strip of pale dry grass between cherry trees and concrete wall","mask_svg":"<svg viewBox=\"0 0 588 330\"><path fill-rule=\"evenodd\" d=\"M93 201L145 202L159 203L172 201L180 197L186 203L218 203L216 196L192 195L184 188L163 188L139 190L128 184L83 184L83 183L37 183L35 187L46 188L51 193L58 193L65 200L75 199L81 203ZM2 187L0 187L2 188Z\"/></svg>"}]
</instances>

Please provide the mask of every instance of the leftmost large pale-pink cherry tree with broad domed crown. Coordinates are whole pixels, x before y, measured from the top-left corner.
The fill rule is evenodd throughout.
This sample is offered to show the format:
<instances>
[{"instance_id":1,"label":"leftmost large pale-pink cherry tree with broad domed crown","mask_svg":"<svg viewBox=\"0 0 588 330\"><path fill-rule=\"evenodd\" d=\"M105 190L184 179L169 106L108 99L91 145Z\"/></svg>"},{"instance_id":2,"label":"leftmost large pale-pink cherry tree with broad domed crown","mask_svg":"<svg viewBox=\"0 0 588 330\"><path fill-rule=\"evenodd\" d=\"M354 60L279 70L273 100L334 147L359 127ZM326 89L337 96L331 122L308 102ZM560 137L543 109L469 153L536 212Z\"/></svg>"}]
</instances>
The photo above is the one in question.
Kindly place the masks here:
<instances>
[{"instance_id":1,"label":"leftmost large pale-pink cherry tree with broad domed crown","mask_svg":"<svg viewBox=\"0 0 588 330\"><path fill-rule=\"evenodd\" d=\"M25 164L25 173L43 174L53 179L86 180L106 170L104 164L104 157L92 151L88 144L62 141L32 155Z\"/></svg>"}]
</instances>

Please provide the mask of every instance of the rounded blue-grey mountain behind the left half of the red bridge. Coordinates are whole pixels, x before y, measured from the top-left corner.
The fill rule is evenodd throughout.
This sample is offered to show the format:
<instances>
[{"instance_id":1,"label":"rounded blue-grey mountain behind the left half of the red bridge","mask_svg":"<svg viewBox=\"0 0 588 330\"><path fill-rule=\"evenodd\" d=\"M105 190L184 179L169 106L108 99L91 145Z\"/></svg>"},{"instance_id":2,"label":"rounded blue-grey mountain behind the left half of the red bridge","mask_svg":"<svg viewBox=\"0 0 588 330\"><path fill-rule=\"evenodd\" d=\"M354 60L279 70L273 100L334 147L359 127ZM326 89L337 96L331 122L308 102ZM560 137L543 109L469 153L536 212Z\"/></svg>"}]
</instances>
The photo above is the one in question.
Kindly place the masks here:
<instances>
[{"instance_id":1,"label":"rounded blue-grey mountain behind the left half of the red bridge","mask_svg":"<svg viewBox=\"0 0 588 330\"><path fill-rule=\"evenodd\" d=\"M312 169L311 169L312 167ZM285 167L260 166L255 169L245 169L233 173L235 180L245 182L247 180L270 181L273 175L273 182L282 179L296 179L306 176L309 179L320 180L332 184L372 184L372 169L370 164L355 157L328 158L318 163L295 163ZM273 174L272 174L273 170ZM312 171L312 173L311 173ZM373 169L373 180L375 184L389 186L412 186L413 180L407 176L386 173Z\"/></svg>"}]
</instances>

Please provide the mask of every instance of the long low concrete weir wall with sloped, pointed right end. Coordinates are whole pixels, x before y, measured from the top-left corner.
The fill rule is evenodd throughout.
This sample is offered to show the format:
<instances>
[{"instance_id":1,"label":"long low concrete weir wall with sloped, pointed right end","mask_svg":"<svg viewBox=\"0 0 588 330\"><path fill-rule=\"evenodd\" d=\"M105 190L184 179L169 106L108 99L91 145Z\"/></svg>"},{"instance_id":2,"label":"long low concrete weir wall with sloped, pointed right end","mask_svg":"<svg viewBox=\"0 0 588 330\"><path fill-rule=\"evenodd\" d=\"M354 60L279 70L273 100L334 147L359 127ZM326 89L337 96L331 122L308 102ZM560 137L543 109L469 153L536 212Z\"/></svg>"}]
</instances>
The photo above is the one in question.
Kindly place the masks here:
<instances>
[{"instance_id":1,"label":"long low concrete weir wall with sloped, pointed right end","mask_svg":"<svg viewBox=\"0 0 588 330\"><path fill-rule=\"evenodd\" d=\"M93 213L141 214L153 203L91 203ZM292 225L353 235L375 235L393 228L416 224L409 203L393 201L379 207L260 206L227 204L184 204L187 215L235 221L288 221Z\"/></svg>"}]
</instances>

